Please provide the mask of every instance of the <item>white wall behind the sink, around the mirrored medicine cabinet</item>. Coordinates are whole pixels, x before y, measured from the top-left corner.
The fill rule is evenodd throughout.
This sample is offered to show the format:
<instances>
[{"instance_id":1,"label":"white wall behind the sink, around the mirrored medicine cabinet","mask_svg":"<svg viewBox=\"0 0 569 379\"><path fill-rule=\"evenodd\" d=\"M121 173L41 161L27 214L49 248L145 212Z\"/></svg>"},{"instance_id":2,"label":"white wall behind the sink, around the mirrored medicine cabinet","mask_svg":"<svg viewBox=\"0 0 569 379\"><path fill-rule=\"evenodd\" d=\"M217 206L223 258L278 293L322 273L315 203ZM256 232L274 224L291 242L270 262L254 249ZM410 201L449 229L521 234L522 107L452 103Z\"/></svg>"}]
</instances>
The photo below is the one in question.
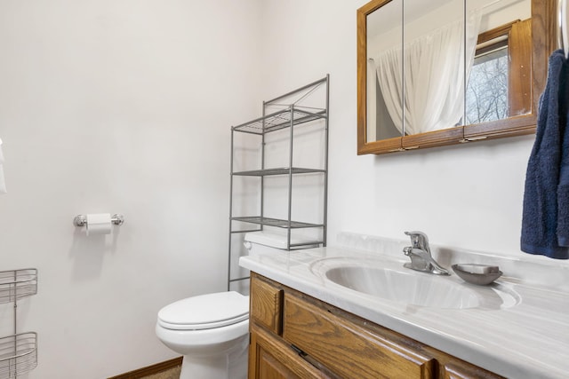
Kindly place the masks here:
<instances>
[{"instance_id":1,"label":"white wall behind the sink, around the mirrored medicine cabinet","mask_svg":"<svg viewBox=\"0 0 569 379\"><path fill-rule=\"evenodd\" d=\"M533 136L357 156L356 11L365 3L262 3L264 44L278 46L263 55L263 91L331 75L330 244L340 231L405 239L405 230L423 230L438 244L524 257L519 238Z\"/></svg>"}]
</instances>

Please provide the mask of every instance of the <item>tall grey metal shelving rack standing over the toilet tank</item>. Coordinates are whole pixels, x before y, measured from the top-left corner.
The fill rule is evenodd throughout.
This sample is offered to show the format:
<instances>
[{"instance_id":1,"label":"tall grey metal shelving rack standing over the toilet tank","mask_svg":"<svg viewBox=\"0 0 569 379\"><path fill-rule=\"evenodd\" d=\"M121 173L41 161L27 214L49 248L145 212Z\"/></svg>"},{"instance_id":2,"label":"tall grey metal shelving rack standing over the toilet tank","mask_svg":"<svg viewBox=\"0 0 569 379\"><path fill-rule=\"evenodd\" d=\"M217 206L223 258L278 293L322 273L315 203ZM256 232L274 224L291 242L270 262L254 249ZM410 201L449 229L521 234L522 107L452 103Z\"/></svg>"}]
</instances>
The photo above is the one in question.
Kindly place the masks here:
<instances>
[{"instance_id":1,"label":"tall grey metal shelving rack standing over the toilet tank","mask_svg":"<svg viewBox=\"0 0 569 379\"><path fill-rule=\"evenodd\" d=\"M263 102L262 113L263 115L250 122L244 122L240 125L231 128L231 181L229 190L229 254L228 254L228 290L233 282L239 280L247 280L248 276L242 278L232 278L232 252L233 243L232 236L235 234L250 233L262 231L265 226L278 228L286 231L286 244L285 250L303 249L311 246L325 246L326 245L326 217L327 217L327 186L328 186L328 118L329 118L329 82L330 76L326 75L325 78L317 80L316 82L309 83L294 91L290 91L275 99ZM315 92L320 91L320 98L315 95ZM305 101L315 100L317 107L313 104L305 106ZM282 109L276 112L268 112L269 109L274 107L281 107ZM318 167L296 167L293 166L293 144L294 144L294 131L299 125L306 124L306 128L310 125L324 125L324 168ZM273 133L277 130L289 130L288 138L289 156L287 167L268 168L265 167L265 154L266 145L268 144L265 136L268 133ZM234 155L236 151L235 135L236 133L245 133L260 136L260 168L259 170L234 170ZM270 143L270 142L269 142ZM293 202L293 177L298 175L319 175L323 176L323 191L324 191L324 204L322 215L319 216L322 222L311 223L301 220L292 219L292 202ZM264 178L271 176L283 176L288 179L288 203L286 218L267 217L264 211L264 192L265 182ZM235 177L258 177L260 178L260 214L259 215L234 215L234 178ZM244 227L242 229L236 228L234 223L241 223L237 225L252 225L251 227ZM303 240L301 242L293 242L291 239L291 231L293 229L301 228L319 228L321 233L319 237L312 240Z\"/></svg>"}]
</instances>

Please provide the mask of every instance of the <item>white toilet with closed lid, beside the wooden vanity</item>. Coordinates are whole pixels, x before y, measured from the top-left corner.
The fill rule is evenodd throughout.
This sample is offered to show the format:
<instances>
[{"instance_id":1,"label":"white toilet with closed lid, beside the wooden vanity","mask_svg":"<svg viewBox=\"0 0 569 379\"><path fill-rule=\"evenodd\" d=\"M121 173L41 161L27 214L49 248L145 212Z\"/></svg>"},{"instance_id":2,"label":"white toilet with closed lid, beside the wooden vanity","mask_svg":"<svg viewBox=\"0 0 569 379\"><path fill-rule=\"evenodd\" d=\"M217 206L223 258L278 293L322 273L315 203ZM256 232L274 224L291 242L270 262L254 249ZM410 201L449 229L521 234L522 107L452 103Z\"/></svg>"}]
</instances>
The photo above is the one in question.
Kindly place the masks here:
<instances>
[{"instance_id":1,"label":"white toilet with closed lid, beside the wooden vanity","mask_svg":"<svg viewBox=\"0 0 569 379\"><path fill-rule=\"evenodd\" d=\"M275 252L282 235L244 237L250 255ZM283 250L278 250L282 252ZM188 297L158 312L156 336L183 355L180 379L245 379L249 347L249 296L218 292Z\"/></svg>"}]
</instances>

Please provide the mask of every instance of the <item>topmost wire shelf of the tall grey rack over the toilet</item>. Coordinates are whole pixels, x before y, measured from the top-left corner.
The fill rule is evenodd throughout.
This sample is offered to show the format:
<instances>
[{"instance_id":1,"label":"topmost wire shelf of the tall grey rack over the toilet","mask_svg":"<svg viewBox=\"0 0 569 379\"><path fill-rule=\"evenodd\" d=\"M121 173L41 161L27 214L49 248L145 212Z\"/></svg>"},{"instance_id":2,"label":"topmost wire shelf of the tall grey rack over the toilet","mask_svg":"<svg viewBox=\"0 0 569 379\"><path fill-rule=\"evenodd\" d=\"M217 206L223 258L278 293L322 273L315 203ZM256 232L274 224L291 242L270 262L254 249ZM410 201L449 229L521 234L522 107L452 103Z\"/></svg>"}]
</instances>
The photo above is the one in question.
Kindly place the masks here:
<instances>
[{"instance_id":1,"label":"topmost wire shelf of the tall grey rack over the toilet","mask_svg":"<svg viewBox=\"0 0 569 379\"><path fill-rule=\"evenodd\" d=\"M291 107L264 117L259 117L251 122L245 122L241 125L233 127L233 130L244 131L253 134L265 134L275 130L288 128L293 123L298 125L305 122L311 122L326 117L326 111L317 110L317 112L308 112L305 110Z\"/></svg>"}]
</instances>

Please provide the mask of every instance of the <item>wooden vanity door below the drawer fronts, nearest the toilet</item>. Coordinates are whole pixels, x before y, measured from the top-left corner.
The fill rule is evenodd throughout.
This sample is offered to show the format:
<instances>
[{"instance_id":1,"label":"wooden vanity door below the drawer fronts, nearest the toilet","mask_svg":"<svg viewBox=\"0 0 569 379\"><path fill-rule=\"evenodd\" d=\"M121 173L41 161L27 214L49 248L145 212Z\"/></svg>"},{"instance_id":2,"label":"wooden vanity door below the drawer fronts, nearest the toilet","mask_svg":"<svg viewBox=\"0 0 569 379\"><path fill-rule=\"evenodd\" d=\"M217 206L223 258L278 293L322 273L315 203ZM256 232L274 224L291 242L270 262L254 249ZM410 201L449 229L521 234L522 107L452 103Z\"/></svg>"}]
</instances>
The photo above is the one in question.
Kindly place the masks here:
<instances>
[{"instance_id":1,"label":"wooden vanity door below the drawer fronts, nearest the toilet","mask_svg":"<svg viewBox=\"0 0 569 379\"><path fill-rule=\"evenodd\" d=\"M281 338L256 326L251 328L249 379L329 379L301 359Z\"/></svg>"}]
</instances>

